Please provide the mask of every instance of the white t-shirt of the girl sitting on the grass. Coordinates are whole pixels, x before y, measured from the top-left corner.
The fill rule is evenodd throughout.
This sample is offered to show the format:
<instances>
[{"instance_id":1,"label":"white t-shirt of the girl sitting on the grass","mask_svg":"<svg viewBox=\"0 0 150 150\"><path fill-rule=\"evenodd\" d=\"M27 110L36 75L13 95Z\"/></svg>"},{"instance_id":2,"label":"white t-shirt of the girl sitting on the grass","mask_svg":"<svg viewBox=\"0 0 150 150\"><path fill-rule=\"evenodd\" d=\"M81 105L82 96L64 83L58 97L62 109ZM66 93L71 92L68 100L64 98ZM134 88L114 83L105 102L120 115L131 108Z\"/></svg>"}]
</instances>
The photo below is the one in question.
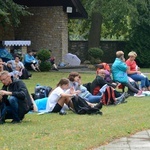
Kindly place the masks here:
<instances>
[{"instance_id":1,"label":"white t-shirt of the girl sitting on the grass","mask_svg":"<svg viewBox=\"0 0 150 150\"><path fill-rule=\"evenodd\" d=\"M47 100L46 111L52 111L54 109L62 93L64 93L64 90L59 86L52 91Z\"/></svg>"}]
</instances>

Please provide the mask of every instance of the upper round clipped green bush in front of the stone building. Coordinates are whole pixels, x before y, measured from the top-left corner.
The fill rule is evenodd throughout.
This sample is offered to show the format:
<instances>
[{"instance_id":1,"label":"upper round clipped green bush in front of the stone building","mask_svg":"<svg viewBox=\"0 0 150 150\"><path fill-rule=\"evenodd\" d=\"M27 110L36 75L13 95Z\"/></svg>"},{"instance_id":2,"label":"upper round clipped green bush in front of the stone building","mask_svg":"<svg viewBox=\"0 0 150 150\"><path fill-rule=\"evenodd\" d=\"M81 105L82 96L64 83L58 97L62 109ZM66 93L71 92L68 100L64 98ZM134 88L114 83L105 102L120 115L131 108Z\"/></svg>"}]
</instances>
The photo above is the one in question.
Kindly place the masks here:
<instances>
[{"instance_id":1,"label":"upper round clipped green bush in front of the stone building","mask_svg":"<svg viewBox=\"0 0 150 150\"><path fill-rule=\"evenodd\" d=\"M42 49L37 52L37 57L41 61L46 61L50 58L50 51L47 49Z\"/></svg>"}]
</instances>

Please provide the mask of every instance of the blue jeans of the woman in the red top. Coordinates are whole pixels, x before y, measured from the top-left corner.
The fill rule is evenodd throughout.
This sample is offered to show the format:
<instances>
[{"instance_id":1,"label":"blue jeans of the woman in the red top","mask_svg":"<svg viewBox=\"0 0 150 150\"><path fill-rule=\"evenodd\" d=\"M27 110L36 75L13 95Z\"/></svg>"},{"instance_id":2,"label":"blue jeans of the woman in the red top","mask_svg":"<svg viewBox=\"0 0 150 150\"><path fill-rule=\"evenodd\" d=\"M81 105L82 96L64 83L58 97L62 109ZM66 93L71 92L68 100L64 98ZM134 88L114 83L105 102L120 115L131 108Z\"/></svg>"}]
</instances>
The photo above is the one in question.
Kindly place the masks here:
<instances>
[{"instance_id":1,"label":"blue jeans of the woman in the red top","mask_svg":"<svg viewBox=\"0 0 150 150\"><path fill-rule=\"evenodd\" d=\"M129 77L131 77L134 81L141 81L141 88L149 87L150 83L147 77L144 77L140 74L129 74Z\"/></svg>"}]
</instances>

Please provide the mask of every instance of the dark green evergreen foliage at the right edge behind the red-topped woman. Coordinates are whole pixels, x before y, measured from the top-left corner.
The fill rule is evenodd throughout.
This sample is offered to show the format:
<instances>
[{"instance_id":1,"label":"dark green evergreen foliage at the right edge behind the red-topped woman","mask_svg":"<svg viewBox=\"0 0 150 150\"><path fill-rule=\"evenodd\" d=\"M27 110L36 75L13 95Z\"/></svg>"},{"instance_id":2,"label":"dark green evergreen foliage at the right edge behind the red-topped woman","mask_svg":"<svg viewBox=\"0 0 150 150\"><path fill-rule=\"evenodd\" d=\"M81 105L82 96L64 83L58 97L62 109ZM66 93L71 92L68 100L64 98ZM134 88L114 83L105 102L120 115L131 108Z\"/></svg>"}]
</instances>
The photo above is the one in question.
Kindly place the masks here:
<instances>
[{"instance_id":1,"label":"dark green evergreen foliage at the right edge behind the red-topped woman","mask_svg":"<svg viewBox=\"0 0 150 150\"><path fill-rule=\"evenodd\" d=\"M137 20L133 20L126 52L137 52L140 67L150 66L150 1L137 4Z\"/></svg>"}]
</instances>

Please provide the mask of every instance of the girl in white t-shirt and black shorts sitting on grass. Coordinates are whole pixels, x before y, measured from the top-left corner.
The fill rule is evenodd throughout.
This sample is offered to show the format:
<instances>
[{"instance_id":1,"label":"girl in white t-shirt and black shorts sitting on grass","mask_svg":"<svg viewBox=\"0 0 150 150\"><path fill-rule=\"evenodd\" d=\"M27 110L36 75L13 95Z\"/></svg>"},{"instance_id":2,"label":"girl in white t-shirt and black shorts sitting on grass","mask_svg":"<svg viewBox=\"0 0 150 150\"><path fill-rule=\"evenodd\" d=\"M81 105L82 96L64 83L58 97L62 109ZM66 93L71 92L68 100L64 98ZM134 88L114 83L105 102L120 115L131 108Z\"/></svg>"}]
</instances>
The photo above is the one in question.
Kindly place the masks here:
<instances>
[{"instance_id":1,"label":"girl in white t-shirt and black shorts sitting on grass","mask_svg":"<svg viewBox=\"0 0 150 150\"><path fill-rule=\"evenodd\" d=\"M65 115L65 110L74 109L71 98L78 95L79 91L75 91L73 87L69 87L69 79L62 78L57 87L50 93L46 105L46 111ZM87 102L90 107L98 108L97 104Z\"/></svg>"}]
</instances>

